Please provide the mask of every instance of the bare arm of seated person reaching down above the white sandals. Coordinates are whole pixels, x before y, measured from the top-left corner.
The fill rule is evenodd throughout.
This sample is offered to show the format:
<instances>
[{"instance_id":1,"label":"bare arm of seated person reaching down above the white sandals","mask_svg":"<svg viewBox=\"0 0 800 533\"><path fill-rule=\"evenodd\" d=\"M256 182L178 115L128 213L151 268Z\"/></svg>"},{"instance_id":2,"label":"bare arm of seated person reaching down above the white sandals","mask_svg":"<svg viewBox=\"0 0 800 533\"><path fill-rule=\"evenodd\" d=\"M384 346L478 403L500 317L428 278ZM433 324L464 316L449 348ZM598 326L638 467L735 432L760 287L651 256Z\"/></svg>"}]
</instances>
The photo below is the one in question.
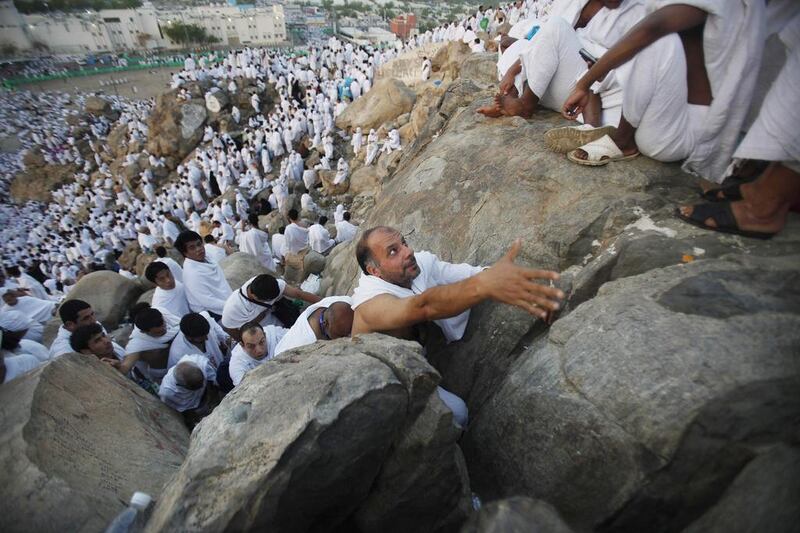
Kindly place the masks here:
<instances>
[{"instance_id":1,"label":"bare arm of seated person reaching down above the white sandals","mask_svg":"<svg viewBox=\"0 0 800 533\"><path fill-rule=\"evenodd\" d=\"M679 33L702 25L708 13L693 6L675 4L662 7L643 18L628 31L575 84L561 110L565 118L575 120L589 100L589 87L602 80L613 69L624 65L636 54L671 33Z\"/></svg>"}]
</instances>

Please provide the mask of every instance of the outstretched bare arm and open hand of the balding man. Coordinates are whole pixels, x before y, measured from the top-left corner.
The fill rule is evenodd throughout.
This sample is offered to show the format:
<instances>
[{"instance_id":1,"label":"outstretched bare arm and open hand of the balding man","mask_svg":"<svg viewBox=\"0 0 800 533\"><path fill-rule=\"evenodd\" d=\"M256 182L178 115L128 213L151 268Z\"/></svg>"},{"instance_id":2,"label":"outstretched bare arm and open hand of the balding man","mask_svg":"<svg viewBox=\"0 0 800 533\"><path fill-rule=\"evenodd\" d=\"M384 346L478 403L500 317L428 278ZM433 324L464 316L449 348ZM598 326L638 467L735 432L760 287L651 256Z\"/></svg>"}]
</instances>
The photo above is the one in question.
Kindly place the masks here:
<instances>
[{"instance_id":1,"label":"outstretched bare arm and open hand of the balding man","mask_svg":"<svg viewBox=\"0 0 800 533\"><path fill-rule=\"evenodd\" d=\"M535 280L557 280L558 273L534 270L514 264L521 247L515 241L508 253L491 268L457 283L432 287L410 298L383 294L356 308L353 334L392 331L422 322L450 318L483 300L495 300L520 307L546 319L559 307L560 290Z\"/></svg>"}]
</instances>

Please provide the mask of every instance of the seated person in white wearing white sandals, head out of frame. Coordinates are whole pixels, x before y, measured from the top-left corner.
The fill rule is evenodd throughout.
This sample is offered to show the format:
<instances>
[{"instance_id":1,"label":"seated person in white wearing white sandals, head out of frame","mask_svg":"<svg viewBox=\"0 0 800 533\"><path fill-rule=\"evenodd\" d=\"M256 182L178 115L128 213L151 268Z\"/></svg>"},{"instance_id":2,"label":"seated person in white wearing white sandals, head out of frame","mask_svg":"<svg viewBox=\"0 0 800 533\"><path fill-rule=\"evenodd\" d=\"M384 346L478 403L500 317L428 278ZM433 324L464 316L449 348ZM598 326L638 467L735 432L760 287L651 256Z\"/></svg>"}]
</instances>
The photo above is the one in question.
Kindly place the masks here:
<instances>
[{"instance_id":1,"label":"seated person in white wearing white sandals, head out of frame","mask_svg":"<svg viewBox=\"0 0 800 533\"><path fill-rule=\"evenodd\" d=\"M750 106L764 47L764 2L659 0L575 84L562 114L575 120L591 87L616 69L625 80L616 130L567 154L588 166L642 153L685 160L719 183ZM568 151L565 148L564 151Z\"/></svg>"}]
</instances>

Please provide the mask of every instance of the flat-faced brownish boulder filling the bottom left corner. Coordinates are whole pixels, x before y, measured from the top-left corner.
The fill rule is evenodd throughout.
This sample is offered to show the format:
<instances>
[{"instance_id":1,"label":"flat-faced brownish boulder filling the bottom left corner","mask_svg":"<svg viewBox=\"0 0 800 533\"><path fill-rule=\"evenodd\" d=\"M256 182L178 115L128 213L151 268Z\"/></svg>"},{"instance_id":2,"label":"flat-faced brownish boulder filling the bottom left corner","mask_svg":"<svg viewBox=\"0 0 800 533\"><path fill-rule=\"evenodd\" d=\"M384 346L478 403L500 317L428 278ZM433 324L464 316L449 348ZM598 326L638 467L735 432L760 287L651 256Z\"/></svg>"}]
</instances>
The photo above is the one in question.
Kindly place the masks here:
<instances>
[{"instance_id":1,"label":"flat-faced brownish boulder filling the bottom left corner","mask_svg":"<svg viewBox=\"0 0 800 533\"><path fill-rule=\"evenodd\" d=\"M3 530L103 531L135 491L158 499L189 435L110 366L68 354L0 387Z\"/></svg>"}]
</instances>

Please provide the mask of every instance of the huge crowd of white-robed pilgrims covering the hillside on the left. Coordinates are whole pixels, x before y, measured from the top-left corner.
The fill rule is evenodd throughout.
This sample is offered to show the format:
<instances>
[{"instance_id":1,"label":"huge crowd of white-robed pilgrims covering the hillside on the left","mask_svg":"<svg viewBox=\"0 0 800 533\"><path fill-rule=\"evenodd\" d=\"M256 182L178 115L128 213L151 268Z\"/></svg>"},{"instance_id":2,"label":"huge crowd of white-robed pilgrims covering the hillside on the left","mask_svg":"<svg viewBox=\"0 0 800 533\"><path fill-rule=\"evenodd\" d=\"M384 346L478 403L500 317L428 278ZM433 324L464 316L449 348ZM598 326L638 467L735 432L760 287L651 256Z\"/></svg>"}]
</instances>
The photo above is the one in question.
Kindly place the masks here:
<instances>
[{"instance_id":1,"label":"huge crowd of white-robed pilgrims covering the hillside on the left","mask_svg":"<svg viewBox=\"0 0 800 533\"><path fill-rule=\"evenodd\" d=\"M321 300L271 275L230 287L218 262L238 250L279 271L287 254L309 248L326 254L353 239L357 226L343 205L325 213L309 194L303 194L302 210L323 217L310 227L304 227L296 211L288 211L285 205L294 184L302 182L308 190L319 185L320 169L335 170L334 183L348 179L348 161L336 158L335 136L346 139L355 154L365 151L367 165L374 164L381 152L401 149L396 129L383 139L375 130L360 128L346 137L336 129L336 117L370 91L376 70L399 53L452 40L462 40L479 51L482 45L478 46L476 32L482 19L490 20L492 26L504 20L513 24L542 16L549 5L549 0L529 0L503 10L482 10L388 49L331 38L310 48L307 55L244 48L219 58L186 57L184 69L171 80L179 99L191 98L186 85L194 81L210 80L209 93L220 89L235 93L249 79L259 92L267 84L274 86L279 101L273 109L265 109L258 94L253 94L254 112L246 120L233 106L232 119L242 131L238 144L227 133L207 126L194 154L178 165L178 179L163 186L157 186L154 177L154 171L164 165L163 158L146 151L127 155L123 167L135 164L142 154L148 156L149 164L139 175L140 194L114 175L101 155L108 152L108 134L119 124L127 129L126 142L145 146L154 99L104 95L119 112L112 122L81 112L86 95L0 94L2 133L21 142L18 152L3 154L0 160L3 381L77 351L112 364L187 416L202 415L211 389L230 390L249 370L289 348L349 334L348 297ZM427 80L430 71L426 58L421 78ZM82 139L72 136L70 116L79 117L88 128ZM293 150L305 136L311 149L320 154L313 168L306 168ZM82 155L81 141L88 144L91 155L85 156L85 151ZM34 148L49 165L75 165L74 180L52 191L47 204L12 203L10 183L24 170L26 151ZM233 199L223 201L220 197L231 188L235 189ZM255 197L267 189L271 190L269 205L261 205ZM269 236L258 228L257 217L271 209L288 211L290 223L281 233ZM336 239L324 227L326 215L335 222ZM211 223L213 231L205 242L198 242L193 239L199 235L188 232L199 233L203 222ZM114 270L135 279L116 261L134 240L143 251L159 256L145 271L157 288L152 307L140 305L131 313L133 331L122 347L96 322L91 305L70 300L69 293L83 275L95 270ZM170 246L184 256L183 266L166 253L165 247ZM286 305L290 299L310 305L300 312L297 306ZM61 327L52 345L45 347L40 344L43 327L54 317ZM253 322L259 327L251 327Z\"/></svg>"}]
</instances>

